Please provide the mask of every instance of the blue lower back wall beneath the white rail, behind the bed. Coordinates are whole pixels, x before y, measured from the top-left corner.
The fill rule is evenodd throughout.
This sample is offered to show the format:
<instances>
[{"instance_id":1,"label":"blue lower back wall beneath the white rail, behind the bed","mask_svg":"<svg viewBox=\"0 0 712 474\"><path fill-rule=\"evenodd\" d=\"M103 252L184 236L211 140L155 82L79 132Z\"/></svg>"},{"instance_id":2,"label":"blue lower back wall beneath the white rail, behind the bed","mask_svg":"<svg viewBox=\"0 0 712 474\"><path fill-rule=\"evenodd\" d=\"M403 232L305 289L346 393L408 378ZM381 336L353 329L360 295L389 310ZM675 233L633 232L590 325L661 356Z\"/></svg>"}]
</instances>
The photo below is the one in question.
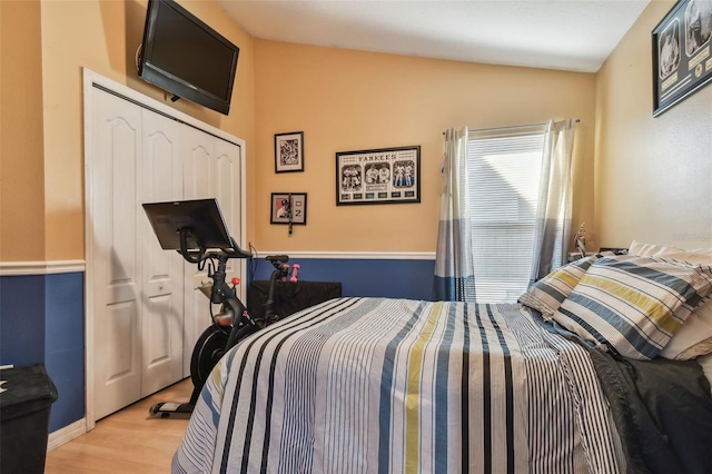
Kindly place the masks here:
<instances>
[{"instance_id":1,"label":"blue lower back wall beneath the white rail, behind the bed","mask_svg":"<svg viewBox=\"0 0 712 474\"><path fill-rule=\"evenodd\" d=\"M269 279L274 267L264 258L257 263L253 279ZM380 258L299 258L298 278L305 282L340 282L344 296L432 299L433 259Z\"/></svg>"}]
</instances>

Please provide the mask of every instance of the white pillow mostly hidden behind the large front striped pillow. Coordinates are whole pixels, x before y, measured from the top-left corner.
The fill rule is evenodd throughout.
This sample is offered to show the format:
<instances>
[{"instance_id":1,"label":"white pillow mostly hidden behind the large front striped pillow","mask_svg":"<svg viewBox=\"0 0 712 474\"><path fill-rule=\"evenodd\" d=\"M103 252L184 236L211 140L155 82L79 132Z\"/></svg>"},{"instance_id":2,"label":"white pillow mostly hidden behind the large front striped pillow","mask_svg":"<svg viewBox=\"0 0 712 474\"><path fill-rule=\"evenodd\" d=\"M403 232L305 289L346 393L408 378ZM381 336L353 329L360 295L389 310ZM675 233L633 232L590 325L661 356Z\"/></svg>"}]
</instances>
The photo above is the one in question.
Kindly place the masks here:
<instances>
[{"instance_id":1,"label":"white pillow mostly hidden behind the large front striped pillow","mask_svg":"<svg viewBox=\"0 0 712 474\"><path fill-rule=\"evenodd\" d=\"M678 247L633 240L627 253L639 257L663 257L712 266L712 248L683 250ZM709 353L712 353L712 299L708 299L692 312L660 355L670 359L686 361Z\"/></svg>"}]
</instances>

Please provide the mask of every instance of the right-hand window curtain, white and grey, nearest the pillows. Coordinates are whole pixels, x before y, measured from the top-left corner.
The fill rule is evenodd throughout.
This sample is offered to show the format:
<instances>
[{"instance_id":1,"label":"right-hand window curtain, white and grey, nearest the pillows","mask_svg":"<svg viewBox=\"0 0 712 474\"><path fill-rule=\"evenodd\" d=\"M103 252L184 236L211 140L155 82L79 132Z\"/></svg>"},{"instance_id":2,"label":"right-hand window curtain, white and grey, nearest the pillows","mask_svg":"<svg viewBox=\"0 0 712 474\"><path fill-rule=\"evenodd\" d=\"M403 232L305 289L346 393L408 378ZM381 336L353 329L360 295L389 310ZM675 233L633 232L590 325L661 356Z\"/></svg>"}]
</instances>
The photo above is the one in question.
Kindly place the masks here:
<instances>
[{"instance_id":1,"label":"right-hand window curtain, white and grey, nearest the pillows","mask_svg":"<svg viewBox=\"0 0 712 474\"><path fill-rule=\"evenodd\" d=\"M566 261L571 235L572 157L575 119L546 126L536 206L532 282Z\"/></svg>"}]
</instances>

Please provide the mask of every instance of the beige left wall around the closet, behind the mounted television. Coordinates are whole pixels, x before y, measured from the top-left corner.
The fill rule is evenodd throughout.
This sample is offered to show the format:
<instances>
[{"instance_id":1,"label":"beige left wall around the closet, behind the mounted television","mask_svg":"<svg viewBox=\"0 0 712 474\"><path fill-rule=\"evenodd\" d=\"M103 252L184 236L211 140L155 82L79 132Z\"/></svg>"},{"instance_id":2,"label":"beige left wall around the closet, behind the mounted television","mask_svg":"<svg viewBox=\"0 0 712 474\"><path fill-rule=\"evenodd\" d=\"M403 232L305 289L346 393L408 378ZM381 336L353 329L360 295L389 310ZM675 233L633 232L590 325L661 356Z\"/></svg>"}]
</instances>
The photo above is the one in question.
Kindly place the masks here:
<instances>
[{"instance_id":1,"label":"beige left wall around the closet, behind the mounted television","mask_svg":"<svg viewBox=\"0 0 712 474\"><path fill-rule=\"evenodd\" d=\"M81 259L85 256L82 68L172 103L162 90L137 75L135 58L147 1L0 3L4 137L0 164L6 177L0 208L3 225L0 259ZM229 116L186 100L172 107L249 144L254 109L253 39L214 2L180 3L239 46L240 57ZM29 55L21 65L28 67L11 62L8 51L27 50ZM247 147L248 160L250 155ZM13 158L17 156L23 157L23 166ZM254 181L249 174L248 169L248 192Z\"/></svg>"}]
</instances>

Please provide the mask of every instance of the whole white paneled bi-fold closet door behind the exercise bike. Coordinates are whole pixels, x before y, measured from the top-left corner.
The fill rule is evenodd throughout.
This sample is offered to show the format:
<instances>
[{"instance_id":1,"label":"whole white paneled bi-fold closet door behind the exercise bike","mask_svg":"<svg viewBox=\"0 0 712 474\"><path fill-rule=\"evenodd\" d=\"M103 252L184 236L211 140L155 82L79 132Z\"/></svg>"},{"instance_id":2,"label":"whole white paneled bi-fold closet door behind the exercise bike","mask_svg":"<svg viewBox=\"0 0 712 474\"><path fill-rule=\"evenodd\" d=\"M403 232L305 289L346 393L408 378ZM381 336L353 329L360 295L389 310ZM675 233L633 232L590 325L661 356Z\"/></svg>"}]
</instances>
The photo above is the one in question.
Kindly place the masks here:
<instances>
[{"instance_id":1,"label":"whole white paneled bi-fold closet door behind the exercise bike","mask_svg":"<svg viewBox=\"0 0 712 474\"><path fill-rule=\"evenodd\" d=\"M101 88L90 90L87 171L89 424L189 376L209 324L207 278L162 250L142 203L217 197L241 235L241 146ZM230 261L229 276L244 264ZM178 401L182 402L182 401Z\"/></svg>"}]
</instances>

